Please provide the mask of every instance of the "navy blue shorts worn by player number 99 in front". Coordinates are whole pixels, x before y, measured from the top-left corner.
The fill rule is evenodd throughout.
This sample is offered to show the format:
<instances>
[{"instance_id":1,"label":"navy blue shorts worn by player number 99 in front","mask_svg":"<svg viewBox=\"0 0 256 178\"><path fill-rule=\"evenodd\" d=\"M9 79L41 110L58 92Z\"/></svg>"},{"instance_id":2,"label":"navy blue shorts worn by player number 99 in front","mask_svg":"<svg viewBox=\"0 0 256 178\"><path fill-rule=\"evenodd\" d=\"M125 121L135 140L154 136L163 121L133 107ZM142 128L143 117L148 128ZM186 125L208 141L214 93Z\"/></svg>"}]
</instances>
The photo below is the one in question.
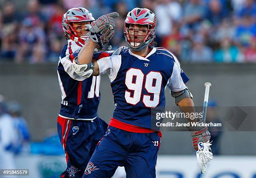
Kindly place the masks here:
<instances>
[{"instance_id":1,"label":"navy blue shorts worn by player number 99 in front","mask_svg":"<svg viewBox=\"0 0 256 178\"><path fill-rule=\"evenodd\" d=\"M155 178L159 133L134 133L112 126L98 143L82 178L111 178L124 166L126 178Z\"/></svg>"}]
</instances>

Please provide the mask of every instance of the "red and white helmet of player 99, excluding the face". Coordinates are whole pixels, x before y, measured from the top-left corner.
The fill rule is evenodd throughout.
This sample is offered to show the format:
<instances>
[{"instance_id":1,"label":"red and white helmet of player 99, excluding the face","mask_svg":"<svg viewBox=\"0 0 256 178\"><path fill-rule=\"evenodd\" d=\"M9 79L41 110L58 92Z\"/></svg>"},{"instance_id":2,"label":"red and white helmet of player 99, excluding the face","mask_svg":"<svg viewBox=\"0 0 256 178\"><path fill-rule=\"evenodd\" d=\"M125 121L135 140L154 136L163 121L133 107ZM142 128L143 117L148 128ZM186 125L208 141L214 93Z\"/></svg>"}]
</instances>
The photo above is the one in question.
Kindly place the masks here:
<instances>
[{"instance_id":1,"label":"red and white helmet of player 99, excluding the face","mask_svg":"<svg viewBox=\"0 0 256 178\"><path fill-rule=\"evenodd\" d=\"M131 24L148 25L148 30L143 35L143 41L136 43L135 38L131 40L131 36L138 36L135 33L134 35L129 34L129 26ZM123 33L128 48L131 50L139 51L145 46L151 45L154 42L154 38L156 38L156 15L146 8L134 8L126 16Z\"/></svg>"}]
</instances>

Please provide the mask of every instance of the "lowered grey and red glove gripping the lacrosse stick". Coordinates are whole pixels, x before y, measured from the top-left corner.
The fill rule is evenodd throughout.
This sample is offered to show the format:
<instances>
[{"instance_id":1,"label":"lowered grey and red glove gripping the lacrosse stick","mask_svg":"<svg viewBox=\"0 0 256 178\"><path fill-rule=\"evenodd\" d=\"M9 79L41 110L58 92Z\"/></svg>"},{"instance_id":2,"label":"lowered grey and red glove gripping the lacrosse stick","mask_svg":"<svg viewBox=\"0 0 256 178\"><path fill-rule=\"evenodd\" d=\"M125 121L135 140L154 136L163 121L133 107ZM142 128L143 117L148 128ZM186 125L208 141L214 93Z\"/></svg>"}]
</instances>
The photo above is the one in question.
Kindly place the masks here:
<instances>
[{"instance_id":1,"label":"lowered grey and red glove gripping the lacrosse stick","mask_svg":"<svg viewBox=\"0 0 256 178\"><path fill-rule=\"evenodd\" d=\"M198 119L199 123L202 123L203 121L201 119ZM188 128L190 131L190 134L192 136L192 144L195 150L198 150L198 143L203 142L206 143L211 138L210 132L207 130L207 127L196 127L191 126Z\"/></svg>"}]
</instances>

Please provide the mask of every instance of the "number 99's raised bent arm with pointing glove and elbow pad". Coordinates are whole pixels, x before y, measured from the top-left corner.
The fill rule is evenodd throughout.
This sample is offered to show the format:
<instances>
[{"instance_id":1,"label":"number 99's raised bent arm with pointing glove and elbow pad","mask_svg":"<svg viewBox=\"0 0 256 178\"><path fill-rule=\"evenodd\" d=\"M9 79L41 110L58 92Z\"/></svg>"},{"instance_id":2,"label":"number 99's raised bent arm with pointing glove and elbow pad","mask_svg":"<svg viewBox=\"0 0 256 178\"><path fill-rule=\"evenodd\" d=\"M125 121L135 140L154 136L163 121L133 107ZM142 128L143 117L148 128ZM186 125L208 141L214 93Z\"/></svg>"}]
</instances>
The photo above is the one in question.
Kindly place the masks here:
<instances>
[{"instance_id":1,"label":"number 99's raised bent arm with pointing glove and elbow pad","mask_svg":"<svg viewBox=\"0 0 256 178\"><path fill-rule=\"evenodd\" d=\"M114 35L115 20L119 14L116 12L108 13L100 16L95 22L90 25L86 25L89 32L89 40L84 45L82 50L78 54L78 58L73 61L74 71L84 77L88 78L91 75L99 75L99 66L95 61L92 61L94 49L102 49L103 46Z\"/></svg>"}]
</instances>

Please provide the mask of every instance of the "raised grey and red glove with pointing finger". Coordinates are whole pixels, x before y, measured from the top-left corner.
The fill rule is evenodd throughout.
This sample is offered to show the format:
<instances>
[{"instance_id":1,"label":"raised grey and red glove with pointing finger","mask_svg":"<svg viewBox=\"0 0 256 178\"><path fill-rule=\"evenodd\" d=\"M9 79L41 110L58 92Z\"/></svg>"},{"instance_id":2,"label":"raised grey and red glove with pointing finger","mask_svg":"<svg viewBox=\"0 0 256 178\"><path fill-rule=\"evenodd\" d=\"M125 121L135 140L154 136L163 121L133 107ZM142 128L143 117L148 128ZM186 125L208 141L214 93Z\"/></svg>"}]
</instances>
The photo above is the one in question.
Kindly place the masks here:
<instances>
[{"instance_id":1,"label":"raised grey and red glove with pointing finger","mask_svg":"<svg viewBox=\"0 0 256 178\"><path fill-rule=\"evenodd\" d=\"M87 35L93 42L97 43L97 47L102 48L113 37L115 32L114 18L118 17L119 14L116 12L108 13L100 16L91 24L86 25L87 30L89 30Z\"/></svg>"}]
</instances>

